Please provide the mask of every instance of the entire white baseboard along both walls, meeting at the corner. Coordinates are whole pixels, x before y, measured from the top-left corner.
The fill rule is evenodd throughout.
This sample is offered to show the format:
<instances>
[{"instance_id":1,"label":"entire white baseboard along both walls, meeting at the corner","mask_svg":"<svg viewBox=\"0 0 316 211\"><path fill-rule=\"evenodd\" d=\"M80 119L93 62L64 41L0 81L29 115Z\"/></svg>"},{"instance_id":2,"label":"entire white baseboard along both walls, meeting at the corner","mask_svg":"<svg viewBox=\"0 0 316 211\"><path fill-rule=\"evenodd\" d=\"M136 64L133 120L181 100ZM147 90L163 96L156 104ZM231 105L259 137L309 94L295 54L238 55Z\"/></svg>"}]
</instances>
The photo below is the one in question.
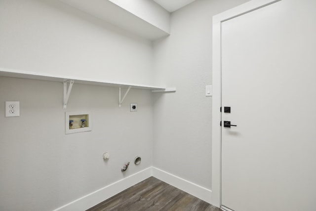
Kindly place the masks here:
<instances>
[{"instance_id":1,"label":"entire white baseboard along both walls, meeting at the corner","mask_svg":"<svg viewBox=\"0 0 316 211\"><path fill-rule=\"evenodd\" d=\"M183 190L207 203L211 203L212 191L199 186L193 182L182 179L166 171L157 169L155 167L149 167L141 170L135 174L132 174L124 179L118 180L110 185L107 185L99 190L89 193L67 205L64 205L54 211L83 211L87 210L106 199L118 194L119 192L147 179L150 176L154 176L161 181L164 181L180 190Z\"/></svg>"}]
</instances>

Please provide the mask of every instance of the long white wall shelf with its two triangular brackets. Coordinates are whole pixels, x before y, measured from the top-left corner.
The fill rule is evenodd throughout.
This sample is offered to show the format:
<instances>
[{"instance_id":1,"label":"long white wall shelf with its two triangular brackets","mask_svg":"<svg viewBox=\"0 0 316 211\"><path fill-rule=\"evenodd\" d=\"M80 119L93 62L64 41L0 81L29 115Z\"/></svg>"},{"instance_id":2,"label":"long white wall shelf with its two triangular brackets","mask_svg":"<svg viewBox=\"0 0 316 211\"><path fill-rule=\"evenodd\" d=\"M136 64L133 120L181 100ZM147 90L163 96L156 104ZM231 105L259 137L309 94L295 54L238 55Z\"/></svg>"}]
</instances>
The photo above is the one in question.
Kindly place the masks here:
<instances>
[{"instance_id":1,"label":"long white wall shelf with its two triangular brackets","mask_svg":"<svg viewBox=\"0 0 316 211\"><path fill-rule=\"evenodd\" d=\"M91 85L101 85L101 86L114 86L118 87L119 90L119 99L118 104L119 107L122 104L125 96L131 88L137 89L148 89L152 90L152 92L174 92L176 91L175 87L160 87L160 86L151 86L151 85L142 85L142 84L128 84L128 83L119 83L119 82L111 82L104 80L94 80L94 79L86 79L79 77L70 77L70 76L61 76L61 75L52 75L52 74L44 74L23 70L14 70L7 68L0 68L0 77L10 77L10 78L21 78L21 79L35 79L42 81L51 81L51 82L61 82L64 85L64 109L67 108L67 102L69 95L71 93L72 85L76 84L91 84ZM69 83L69 87L67 88L67 84ZM123 98L121 99L121 88L127 88Z\"/></svg>"}]
</instances>

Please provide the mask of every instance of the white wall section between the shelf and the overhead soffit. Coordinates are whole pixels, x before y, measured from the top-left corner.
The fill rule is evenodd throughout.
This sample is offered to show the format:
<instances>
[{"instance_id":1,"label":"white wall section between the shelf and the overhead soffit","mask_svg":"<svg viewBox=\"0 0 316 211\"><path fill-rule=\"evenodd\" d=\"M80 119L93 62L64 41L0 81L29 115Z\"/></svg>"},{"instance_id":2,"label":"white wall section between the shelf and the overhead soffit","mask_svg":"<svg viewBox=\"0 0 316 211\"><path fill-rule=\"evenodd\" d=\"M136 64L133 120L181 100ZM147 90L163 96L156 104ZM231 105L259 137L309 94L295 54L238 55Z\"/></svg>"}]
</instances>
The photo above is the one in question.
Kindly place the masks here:
<instances>
[{"instance_id":1,"label":"white wall section between the shelf and the overhead soffit","mask_svg":"<svg viewBox=\"0 0 316 211\"><path fill-rule=\"evenodd\" d=\"M0 66L152 84L152 43L58 0L0 0Z\"/></svg>"}]
</instances>

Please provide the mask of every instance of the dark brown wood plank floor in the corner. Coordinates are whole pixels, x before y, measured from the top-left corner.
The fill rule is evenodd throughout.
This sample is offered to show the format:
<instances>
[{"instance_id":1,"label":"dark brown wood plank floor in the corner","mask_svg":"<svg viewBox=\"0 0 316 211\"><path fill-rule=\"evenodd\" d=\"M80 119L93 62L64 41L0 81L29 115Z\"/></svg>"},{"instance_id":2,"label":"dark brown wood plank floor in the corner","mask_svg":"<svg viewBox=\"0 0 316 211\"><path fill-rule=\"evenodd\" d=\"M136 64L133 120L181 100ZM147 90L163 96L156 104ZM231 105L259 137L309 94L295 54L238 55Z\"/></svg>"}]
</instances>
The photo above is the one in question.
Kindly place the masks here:
<instances>
[{"instance_id":1,"label":"dark brown wood plank floor in the corner","mask_svg":"<svg viewBox=\"0 0 316 211\"><path fill-rule=\"evenodd\" d=\"M220 211L220 209L155 177L149 177L87 211Z\"/></svg>"}]
</instances>

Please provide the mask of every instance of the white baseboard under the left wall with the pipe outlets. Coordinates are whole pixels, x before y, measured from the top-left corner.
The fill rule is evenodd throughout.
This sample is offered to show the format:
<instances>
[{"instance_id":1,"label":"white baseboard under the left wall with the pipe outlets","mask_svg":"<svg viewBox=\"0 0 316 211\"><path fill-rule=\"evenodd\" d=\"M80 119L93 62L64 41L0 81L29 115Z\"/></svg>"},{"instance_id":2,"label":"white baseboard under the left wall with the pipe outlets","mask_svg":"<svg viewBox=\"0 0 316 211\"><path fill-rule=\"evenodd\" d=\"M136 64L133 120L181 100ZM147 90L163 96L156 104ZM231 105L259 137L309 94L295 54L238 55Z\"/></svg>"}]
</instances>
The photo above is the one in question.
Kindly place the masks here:
<instances>
[{"instance_id":1,"label":"white baseboard under the left wall with the pipe outlets","mask_svg":"<svg viewBox=\"0 0 316 211\"><path fill-rule=\"evenodd\" d=\"M118 180L110 185L107 185L97 191L89 193L67 205L64 205L54 211L84 211L87 210L106 199L118 194L119 192L137 184L138 182L152 176L152 167L141 170L126 178Z\"/></svg>"}]
</instances>

